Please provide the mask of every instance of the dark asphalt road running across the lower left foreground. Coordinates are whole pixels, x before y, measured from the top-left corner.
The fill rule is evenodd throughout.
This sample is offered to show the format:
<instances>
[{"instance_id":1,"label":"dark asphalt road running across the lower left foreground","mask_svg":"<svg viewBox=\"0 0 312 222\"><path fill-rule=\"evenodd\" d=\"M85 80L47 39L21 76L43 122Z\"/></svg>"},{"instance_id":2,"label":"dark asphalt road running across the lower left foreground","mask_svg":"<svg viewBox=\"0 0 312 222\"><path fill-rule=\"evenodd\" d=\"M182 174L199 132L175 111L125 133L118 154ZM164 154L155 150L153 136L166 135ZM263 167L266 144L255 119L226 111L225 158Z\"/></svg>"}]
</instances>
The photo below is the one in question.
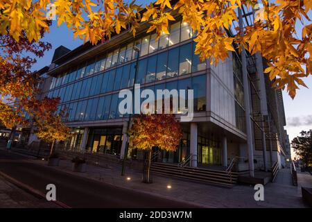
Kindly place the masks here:
<instances>
[{"instance_id":1,"label":"dark asphalt road running across the lower left foreground","mask_svg":"<svg viewBox=\"0 0 312 222\"><path fill-rule=\"evenodd\" d=\"M0 171L43 194L46 194L46 185L54 184L57 200L69 207L196 207L23 160L27 157L0 150Z\"/></svg>"}]
</instances>

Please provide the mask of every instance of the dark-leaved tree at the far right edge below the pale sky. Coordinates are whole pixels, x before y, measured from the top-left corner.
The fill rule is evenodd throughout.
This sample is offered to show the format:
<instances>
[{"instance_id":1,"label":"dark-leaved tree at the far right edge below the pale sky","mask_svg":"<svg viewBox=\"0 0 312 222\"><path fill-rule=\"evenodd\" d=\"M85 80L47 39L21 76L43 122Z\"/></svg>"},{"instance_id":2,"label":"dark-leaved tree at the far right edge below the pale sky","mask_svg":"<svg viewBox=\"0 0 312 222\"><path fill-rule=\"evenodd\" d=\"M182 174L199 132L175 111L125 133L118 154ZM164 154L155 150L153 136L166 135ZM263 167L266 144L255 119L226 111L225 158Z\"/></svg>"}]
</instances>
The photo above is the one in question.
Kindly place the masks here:
<instances>
[{"instance_id":1,"label":"dark-leaved tree at the far right edge below the pale sky","mask_svg":"<svg viewBox=\"0 0 312 222\"><path fill-rule=\"evenodd\" d=\"M300 132L300 136L293 138L291 147L299 155L306 167L312 165L312 130Z\"/></svg>"}]
</instances>

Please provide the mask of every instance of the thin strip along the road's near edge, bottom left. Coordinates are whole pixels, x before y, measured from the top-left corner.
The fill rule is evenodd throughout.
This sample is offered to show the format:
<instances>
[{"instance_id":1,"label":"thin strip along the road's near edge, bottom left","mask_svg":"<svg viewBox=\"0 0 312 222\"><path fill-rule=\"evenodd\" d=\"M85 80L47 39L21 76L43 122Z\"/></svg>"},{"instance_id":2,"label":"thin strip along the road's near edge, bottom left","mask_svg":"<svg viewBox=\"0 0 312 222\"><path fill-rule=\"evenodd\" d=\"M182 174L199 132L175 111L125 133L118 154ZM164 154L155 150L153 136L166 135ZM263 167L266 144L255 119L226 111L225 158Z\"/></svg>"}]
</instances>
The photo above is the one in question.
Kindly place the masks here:
<instances>
[{"instance_id":1,"label":"thin strip along the road's near edge, bottom left","mask_svg":"<svg viewBox=\"0 0 312 222\"><path fill-rule=\"evenodd\" d=\"M9 182L12 182L12 184L16 185L17 187L19 187L21 189L24 189L24 190L30 192L34 196L37 196L39 198L44 198L44 200L46 200L46 195L42 194L42 192L38 191L37 189L33 189L33 187L30 187L30 186L24 184L23 182L20 182L19 180L16 180L15 178L8 176L8 174L3 173L2 171L0 171L0 176L3 176L3 178L6 178L7 180L9 180ZM62 203L59 200L51 200L51 202L55 203L56 205L59 205L62 208L71 208L71 207L69 207L69 205Z\"/></svg>"}]
</instances>

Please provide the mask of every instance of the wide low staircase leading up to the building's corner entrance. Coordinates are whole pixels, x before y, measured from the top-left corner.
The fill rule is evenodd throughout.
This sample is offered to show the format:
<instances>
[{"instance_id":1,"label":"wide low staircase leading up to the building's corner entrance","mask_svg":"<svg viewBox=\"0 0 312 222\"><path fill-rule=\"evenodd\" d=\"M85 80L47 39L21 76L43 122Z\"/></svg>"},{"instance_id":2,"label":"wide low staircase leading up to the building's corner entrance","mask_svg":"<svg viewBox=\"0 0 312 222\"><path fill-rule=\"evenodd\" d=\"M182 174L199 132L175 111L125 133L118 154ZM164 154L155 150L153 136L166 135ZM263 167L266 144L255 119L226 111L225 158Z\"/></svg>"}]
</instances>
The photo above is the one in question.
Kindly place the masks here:
<instances>
[{"instance_id":1,"label":"wide low staircase leading up to the building's corner entrance","mask_svg":"<svg viewBox=\"0 0 312 222\"><path fill-rule=\"evenodd\" d=\"M198 167L180 167L178 164L153 162L150 171L162 176L174 176L187 180L207 182L211 185L233 187L238 179L238 173L232 171L218 171Z\"/></svg>"}]
</instances>

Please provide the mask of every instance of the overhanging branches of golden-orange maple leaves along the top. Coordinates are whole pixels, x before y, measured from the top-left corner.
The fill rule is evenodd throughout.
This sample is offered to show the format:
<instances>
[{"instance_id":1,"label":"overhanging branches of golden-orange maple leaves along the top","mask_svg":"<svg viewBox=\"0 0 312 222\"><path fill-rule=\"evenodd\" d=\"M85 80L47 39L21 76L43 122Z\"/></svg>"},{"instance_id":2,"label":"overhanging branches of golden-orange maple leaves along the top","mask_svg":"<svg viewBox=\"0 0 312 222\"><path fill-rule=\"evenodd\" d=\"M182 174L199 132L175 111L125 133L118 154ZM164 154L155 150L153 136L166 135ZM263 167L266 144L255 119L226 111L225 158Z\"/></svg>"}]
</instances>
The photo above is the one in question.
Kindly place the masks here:
<instances>
[{"instance_id":1,"label":"overhanging branches of golden-orange maple leaves along the top","mask_svg":"<svg viewBox=\"0 0 312 222\"><path fill-rule=\"evenodd\" d=\"M53 5L49 5L53 3ZM0 34L15 40L26 32L29 41L40 40L40 30L49 31L46 15L57 20L92 44L110 39L112 33L130 31L136 34L140 22L149 22L148 33L157 37L168 33L168 23L182 17L197 33L194 41L196 54L211 64L225 60L228 51L246 49L251 55L261 53L269 62L266 73L274 87L284 89L294 98L304 78L312 74L312 24L308 12L310 0L263 0L252 24L236 30L229 36L233 23L239 23L239 10L258 10L257 0L157 0L144 10L135 1L123 0L0 0ZM47 7L49 6L49 7ZM302 24L298 36L296 26Z\"/></svg>"}]
</instances>

